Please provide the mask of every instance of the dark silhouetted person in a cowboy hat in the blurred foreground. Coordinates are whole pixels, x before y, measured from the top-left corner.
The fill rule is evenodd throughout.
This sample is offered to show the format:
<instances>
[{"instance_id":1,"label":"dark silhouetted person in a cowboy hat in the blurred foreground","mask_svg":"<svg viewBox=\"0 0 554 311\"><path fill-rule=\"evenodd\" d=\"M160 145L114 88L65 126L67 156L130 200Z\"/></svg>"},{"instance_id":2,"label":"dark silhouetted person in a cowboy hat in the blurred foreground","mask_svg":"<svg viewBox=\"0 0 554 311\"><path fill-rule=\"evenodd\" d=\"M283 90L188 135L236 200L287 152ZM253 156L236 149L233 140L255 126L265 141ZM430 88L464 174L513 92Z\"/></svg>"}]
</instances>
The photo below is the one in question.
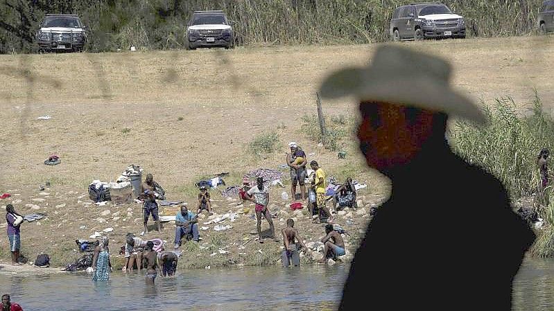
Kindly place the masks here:
<instances>
[{"instance_id":1,"label":"dark silhouetted person in a cowboy hat in the blurred foreground","mask_svg":"<svg viewBox=\"0 0 554 311\"><path fill-rule=\"evenodd\" d=\"M367 68L330 75L322 96L360 100L360 149L392 181L367 226L339 310L510 310L535 234L501 182L451 152L447 115L485 123L449 87L450 65L381 46ZM394 105L401 103L402 105Z\"/></svg>"}]
</instances>

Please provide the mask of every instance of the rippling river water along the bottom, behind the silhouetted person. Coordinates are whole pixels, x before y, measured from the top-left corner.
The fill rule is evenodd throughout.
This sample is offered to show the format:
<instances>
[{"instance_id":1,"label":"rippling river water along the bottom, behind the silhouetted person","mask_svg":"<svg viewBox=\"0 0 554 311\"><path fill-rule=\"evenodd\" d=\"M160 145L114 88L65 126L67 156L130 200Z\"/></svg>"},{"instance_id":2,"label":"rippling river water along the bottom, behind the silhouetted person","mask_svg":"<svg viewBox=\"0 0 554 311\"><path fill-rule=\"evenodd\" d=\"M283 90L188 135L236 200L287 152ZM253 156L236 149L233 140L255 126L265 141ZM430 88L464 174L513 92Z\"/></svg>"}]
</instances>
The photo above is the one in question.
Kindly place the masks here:
<instances>
[{"instance_id":1,"label":"rippling river water along the bottom, behind the silhouetted person","mask_svg":"<svg viewBox=\"0 0 554 311\"><path fill-rule=\"evenodd\" d=\"M347 265L300 269L180 270L146 285L144 276L112 273L0 276L0 293L24 310L336 310ZM554 310L554 260L526 260L514 281L513 310Z\"/></svg>"}]
</instances>

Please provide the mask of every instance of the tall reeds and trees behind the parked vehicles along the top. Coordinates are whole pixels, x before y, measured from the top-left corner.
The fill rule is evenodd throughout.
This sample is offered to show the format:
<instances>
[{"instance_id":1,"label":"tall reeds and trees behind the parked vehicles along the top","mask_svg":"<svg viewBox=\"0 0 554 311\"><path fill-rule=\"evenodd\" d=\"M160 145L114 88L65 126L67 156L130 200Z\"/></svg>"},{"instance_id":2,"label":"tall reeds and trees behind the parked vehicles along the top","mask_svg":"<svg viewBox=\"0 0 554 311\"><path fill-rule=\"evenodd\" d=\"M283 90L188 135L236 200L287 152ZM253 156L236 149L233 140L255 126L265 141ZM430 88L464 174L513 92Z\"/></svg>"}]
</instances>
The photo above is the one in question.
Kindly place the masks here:
<instances>
[{"instance_id":1,"label":"tall reeds and trees behind the parked vehicles along the top","mask_svg":"<svg viewBox=\"0 0 554 311\"><path fill-rule=\"evenodd\" d=\"M447 0L466 19L470 36L496 37L535 31L542 0ZM224 10L237 44L358 44L388 40L392 0L7 0L0 6L0 53L36 51L44 14L80 15L90 28L89 51L182 48L194 10Z\"/></svg>"}]
</instances>

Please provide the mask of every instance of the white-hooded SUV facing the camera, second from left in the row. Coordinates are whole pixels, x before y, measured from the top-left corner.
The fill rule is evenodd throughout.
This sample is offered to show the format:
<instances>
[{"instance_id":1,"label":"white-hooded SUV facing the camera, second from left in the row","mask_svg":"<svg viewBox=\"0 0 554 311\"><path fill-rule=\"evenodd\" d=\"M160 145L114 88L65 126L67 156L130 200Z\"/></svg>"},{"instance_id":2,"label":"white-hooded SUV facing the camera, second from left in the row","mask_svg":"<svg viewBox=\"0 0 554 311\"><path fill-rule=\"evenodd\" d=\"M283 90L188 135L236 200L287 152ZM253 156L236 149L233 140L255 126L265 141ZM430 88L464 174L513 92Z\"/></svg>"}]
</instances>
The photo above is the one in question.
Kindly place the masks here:
<instances>
[{"instance_id":1,"label":"white-hooded SUV facing the camera, second from left in the row","mask_svg":"<svg viewBox=\"0 0 554 311\"><path fill-rule=\"evenodd\" d=\"M196 11L187 25L185 47L234 48L234 30L223 11Z\"/></svg>"}]
</instances>

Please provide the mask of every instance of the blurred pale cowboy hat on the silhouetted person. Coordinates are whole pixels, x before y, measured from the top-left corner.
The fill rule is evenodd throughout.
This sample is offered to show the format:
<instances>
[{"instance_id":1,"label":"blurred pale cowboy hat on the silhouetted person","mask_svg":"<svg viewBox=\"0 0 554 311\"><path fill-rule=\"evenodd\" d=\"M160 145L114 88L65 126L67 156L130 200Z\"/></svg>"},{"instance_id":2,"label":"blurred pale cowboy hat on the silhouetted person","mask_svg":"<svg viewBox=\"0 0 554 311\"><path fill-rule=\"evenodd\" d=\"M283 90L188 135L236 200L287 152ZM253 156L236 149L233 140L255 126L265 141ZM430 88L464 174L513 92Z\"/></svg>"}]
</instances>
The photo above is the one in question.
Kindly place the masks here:
<instances>
[{"instance_id":1,"label":"blurred pale cowboy hat on the silhouetted person","mask_svg":"<svg viewBox=\"0 0 554 311\"><path fill-rule=\"evenodd\" d=\"M324 98L354 95L365 101L386 101L486 123L474 103L449 86L451 65L434 55L385 45L374 53L372 64L331 73L320 86Z\"/></svg>"}]
</instances>

